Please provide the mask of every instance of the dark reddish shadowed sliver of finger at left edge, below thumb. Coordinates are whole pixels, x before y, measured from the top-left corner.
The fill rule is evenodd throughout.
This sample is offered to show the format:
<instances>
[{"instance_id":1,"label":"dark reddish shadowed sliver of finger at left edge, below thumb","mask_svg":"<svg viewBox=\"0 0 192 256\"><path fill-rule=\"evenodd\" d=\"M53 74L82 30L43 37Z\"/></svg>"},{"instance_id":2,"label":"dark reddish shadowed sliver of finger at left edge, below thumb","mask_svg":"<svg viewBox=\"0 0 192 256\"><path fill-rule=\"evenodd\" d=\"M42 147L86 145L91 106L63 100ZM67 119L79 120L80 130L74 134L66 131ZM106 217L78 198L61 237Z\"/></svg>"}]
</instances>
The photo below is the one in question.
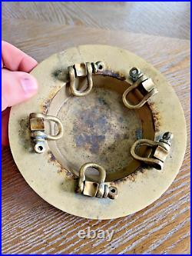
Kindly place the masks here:
<instances>
[{"instance_id":1,"label":"dark reddish shadowed sliver of finger at left edge, below thumb","mask_svg":"<svg viewBox=\"0 0 192 256\"><path fill-rule=\"evenodd\" d=\"M10 109L7 108L5 111L2 111L2 145L8 145L8 119L10 114Z\"/></svg>"}]
</instances>

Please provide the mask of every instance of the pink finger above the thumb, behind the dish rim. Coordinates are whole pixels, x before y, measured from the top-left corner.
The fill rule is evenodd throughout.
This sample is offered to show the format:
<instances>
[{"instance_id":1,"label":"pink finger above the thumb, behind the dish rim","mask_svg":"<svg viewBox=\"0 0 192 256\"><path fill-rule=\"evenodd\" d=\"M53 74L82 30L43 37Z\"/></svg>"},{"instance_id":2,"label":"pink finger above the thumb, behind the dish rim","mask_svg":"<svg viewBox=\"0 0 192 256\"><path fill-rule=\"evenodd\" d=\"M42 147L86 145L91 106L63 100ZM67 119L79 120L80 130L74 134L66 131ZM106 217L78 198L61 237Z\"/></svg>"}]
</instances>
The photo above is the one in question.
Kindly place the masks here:
<instances>
[{"instance_id":1,"label":"pink finger above the thumb, behind the dish rim","mask_svg":"<svg viewBox=\"0 0 192 256\"><path fill-rule=\"evenodd\" d=\"M15 46L2 41L2 65L12 71L30 72L38 62Z\"/></svg>"}]
</instances>

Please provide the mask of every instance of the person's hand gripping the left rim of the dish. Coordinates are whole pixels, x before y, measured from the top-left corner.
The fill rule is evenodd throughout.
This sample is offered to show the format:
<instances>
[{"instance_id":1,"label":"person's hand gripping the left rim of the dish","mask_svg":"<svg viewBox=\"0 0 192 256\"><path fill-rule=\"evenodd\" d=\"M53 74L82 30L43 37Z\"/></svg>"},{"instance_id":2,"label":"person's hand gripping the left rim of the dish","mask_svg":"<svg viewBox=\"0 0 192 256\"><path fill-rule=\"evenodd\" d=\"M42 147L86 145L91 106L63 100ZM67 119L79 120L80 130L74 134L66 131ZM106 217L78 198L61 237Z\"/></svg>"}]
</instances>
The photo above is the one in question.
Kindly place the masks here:
<instances>
[{"instance_id":1,"label":"person's hand gripping the left rim of the dish","mask_svg":"<svg viewBox=\"0 0 192 256\"><path fill-rule=\"evenodd\" d=\"M38 91L36 79L28 74L37 64L34 58L2 41L2 145L8 145L10 107Z\"/></svg>"}]
</instances>

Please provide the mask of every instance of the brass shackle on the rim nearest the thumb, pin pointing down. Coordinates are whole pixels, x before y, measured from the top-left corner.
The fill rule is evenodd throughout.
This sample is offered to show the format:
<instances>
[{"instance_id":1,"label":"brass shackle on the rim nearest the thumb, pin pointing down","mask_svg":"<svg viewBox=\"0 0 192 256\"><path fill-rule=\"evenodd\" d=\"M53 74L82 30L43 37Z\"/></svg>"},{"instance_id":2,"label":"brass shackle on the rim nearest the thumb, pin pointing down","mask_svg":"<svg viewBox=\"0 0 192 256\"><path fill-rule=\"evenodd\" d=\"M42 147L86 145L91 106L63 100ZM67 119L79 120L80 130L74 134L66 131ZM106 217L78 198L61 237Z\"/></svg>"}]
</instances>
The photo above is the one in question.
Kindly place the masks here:
<instances>
[{"instance_id":1,"label":"brass shackle on the rim nearest the thumb, pin pointing down","mask_svg":"<svg viewBox=\"0 0 192 256\"><path fill-rule=\"evenodd\" d=\"M45 121L54 121L58 126L57 135L48 135L45 133ZM61 121L52 115L44 115L41 113L31 113L29 115L31 138L35 143L34 150L41 154L45 152L45 139L58 140L63 136L63 125Z\"/></svg>"}]
</instances>

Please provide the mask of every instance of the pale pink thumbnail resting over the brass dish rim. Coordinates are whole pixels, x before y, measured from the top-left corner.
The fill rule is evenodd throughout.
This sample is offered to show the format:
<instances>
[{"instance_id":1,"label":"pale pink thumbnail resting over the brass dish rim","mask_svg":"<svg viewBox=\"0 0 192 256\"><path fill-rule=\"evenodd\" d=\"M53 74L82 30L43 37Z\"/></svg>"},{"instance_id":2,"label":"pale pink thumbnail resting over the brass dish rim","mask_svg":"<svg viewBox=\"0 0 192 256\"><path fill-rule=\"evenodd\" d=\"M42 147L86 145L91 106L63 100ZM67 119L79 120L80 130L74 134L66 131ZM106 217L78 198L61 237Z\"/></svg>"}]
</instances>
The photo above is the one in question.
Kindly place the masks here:
<instances>
[{"instance_id":1,"label":"pale pink thumbnail resting over the brass dish rim","mask_svg":"<svg viewBox=\"0 0 192 256\"><path fill-rule=\"evenodd\" d=\"M21 85L22 85L23 91L25 91L25 95L27 96L35 95L35 93L38 90L37 81L31 75L22 77Z\"/></svg>"}]
</instances>

